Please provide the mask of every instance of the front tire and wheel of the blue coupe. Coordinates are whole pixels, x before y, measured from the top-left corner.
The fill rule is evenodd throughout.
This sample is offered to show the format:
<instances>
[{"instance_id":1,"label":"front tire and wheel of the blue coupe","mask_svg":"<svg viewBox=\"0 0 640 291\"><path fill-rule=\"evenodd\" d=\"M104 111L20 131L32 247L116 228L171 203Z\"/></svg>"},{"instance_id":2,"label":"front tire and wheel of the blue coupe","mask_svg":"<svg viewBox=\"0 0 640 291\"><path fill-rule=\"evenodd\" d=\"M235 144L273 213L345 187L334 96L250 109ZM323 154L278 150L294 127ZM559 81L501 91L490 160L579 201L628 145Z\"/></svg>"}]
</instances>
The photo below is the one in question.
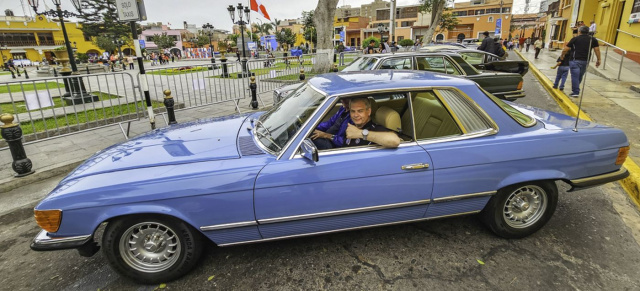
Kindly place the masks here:
<instances>
[{"instance_id":1,"label":"front tire and wheel of the blue coupe","mask_svg":"<svg viewBox=\"0 0 640 291\"><path fill-rule=\"evenodd\" d=\"M137 216L110 222L102 238L111 267L136 282L157 284L188 273L202 254L201 234L183 221Z\"/></svg>"}]
</instances>

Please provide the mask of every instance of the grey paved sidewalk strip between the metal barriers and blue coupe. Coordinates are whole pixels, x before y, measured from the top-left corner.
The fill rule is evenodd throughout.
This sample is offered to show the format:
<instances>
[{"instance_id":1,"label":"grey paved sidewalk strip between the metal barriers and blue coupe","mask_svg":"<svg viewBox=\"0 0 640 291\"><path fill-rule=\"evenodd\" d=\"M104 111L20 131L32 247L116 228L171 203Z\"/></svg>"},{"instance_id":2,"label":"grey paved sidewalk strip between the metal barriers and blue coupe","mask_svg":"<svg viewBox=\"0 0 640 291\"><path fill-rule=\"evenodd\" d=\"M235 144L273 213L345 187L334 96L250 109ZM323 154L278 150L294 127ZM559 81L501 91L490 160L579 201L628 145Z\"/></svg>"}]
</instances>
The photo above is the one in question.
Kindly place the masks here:
<instances>
[{"instance_id":1,"label":"grey paved sidewalk strip between the metal barriers and blue coupe","mask_svg":"<svg viewBox=\"0 0 640 291\"><path fill-rule=\"evenodd\" d=\"M264 102L264 106L260 102L260 98ZM260 106L258 110L264 110L273 103L272 92L260 94L260 98L258 99ZM250 98L240 101L239 107L243 113L253 111L249 105L250 102ZM184 123L234 113L237 113L237 111L233 102L227 101L176 111L176 120L178 123ZM126 126L127 124L124 123L125 130ZM156 128L166 126L165 119L160 115L156 115ZM146 117L141 118L139 121L131 123L129 137L135 137L148 132L150 129L149 120ZM35 173L22 178L13 177L15 172L11 168L11 153L9 149L2 150L0 151L0 195L36 181L68 173L95 152L123 141L125 141L125 137L122 130L117 124L114 124L100 129L25 145L25 151L33 163Z\"/></svg>"}]
</instances>

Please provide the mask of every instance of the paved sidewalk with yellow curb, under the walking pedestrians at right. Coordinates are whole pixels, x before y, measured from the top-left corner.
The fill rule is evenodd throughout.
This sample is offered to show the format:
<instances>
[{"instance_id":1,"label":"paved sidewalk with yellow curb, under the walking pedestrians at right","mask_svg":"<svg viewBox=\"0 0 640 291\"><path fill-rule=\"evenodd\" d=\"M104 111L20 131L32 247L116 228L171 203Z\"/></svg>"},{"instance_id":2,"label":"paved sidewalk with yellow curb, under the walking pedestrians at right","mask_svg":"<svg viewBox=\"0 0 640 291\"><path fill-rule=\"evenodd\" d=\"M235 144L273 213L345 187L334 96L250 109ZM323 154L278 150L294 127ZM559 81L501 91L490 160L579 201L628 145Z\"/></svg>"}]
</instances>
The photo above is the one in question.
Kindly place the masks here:
<instances>
[{"instance_id":1,"label":"paved sidewalk with yellow curb, under the walking pedestrians at right","mask_svg":"<svg viewBox=\"0 0 640 291\"><path fill-rule=\"evenodd\" d=\"M540 74L539 79L546 78L541 79L542 85L550 91L565 111L571 112L575 116L580 98L568 97L568 94L571 94L571 74L567 78L564 91L551 88L557 72L551 67L556 64L561 51L543 50L538 59L534 59L533 50L517 53L524 60L529 61L530 66L534 67L530 70L531 73ZM634 74L629 71L626 73L627 76L622 78L623 80L635 80L636 83L611 81L610 76L603 77L605 73L602 72L594 74L594 70L602 71L602 68L596 68L595 62L592 62L585 75L586 83L584 92L582 92L581 108L584 113L581 113L581 118L620 128L627 134L631 145L629 153L631 159L628 159L624 166L631 172L631 177L625 179L622 184L635 199L634 202L637 206L640 207L638 204L640 202L640 168L638 168L638 164L640 164L640 93L633 89L637 83L640 83L640 75L628 76ZM610 72L606 74L610 75Z\"/></svg>"}]
</instances>

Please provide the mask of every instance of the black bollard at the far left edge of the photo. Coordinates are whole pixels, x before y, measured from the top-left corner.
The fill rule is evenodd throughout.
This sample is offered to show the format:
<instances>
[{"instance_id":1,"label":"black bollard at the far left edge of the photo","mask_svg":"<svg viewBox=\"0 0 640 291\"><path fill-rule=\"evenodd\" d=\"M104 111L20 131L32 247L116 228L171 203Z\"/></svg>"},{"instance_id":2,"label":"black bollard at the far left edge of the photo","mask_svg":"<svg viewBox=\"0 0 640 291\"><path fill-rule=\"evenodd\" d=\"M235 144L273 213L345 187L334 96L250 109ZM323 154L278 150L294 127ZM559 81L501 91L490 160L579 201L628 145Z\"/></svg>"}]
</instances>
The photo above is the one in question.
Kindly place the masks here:
<instances>
[{"instance_id":1,"label":"black bollard at the far left edge of the photo","mask_svg":"<svg viewBox=\"0 0 640 291\"><path fill-rule=\"evenodd\" d=\"M33 174L31 160L27 158L27 153L22 145L22 128L17 123L13 123L13 115L5 113L0 115L0 121L4 125L0 126L0 134L2 138L9 144L13 163L11 167L16 172L16 177L24 177Z\"/></svg>"}]
</instances>

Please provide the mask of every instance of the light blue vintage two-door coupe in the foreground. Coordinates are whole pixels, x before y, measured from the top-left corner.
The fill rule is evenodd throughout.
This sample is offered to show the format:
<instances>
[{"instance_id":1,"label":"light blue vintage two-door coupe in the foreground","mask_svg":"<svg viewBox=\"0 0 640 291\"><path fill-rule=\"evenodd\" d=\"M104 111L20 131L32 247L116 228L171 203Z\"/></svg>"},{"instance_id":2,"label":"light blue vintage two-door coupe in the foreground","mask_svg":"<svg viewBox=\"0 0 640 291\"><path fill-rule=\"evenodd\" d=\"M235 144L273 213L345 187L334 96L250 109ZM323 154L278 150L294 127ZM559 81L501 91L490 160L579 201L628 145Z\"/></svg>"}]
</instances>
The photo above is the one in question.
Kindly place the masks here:
<instances>
[{"instance_id":1,"label":"light blue vintage two-door coupe in the foreground","mask_svg":"<svg viewBox=\"0 0 640 291\"><path fill-rule=\"evenodd\" d=\"M402 138L397 148L314 146L319 122L352 97L370 100L373 120ZM151 284L189 272L206 240L222 247L470 214L522 238L551 218L556 182L574 191L628 176L625 134L587 121L574 131L574 122L442 74L319 75L267 112L156 129L96 153L35 207L43 230L31 248L91 256L101 237L113 269Z\"/></svg>"}]
</instances>

